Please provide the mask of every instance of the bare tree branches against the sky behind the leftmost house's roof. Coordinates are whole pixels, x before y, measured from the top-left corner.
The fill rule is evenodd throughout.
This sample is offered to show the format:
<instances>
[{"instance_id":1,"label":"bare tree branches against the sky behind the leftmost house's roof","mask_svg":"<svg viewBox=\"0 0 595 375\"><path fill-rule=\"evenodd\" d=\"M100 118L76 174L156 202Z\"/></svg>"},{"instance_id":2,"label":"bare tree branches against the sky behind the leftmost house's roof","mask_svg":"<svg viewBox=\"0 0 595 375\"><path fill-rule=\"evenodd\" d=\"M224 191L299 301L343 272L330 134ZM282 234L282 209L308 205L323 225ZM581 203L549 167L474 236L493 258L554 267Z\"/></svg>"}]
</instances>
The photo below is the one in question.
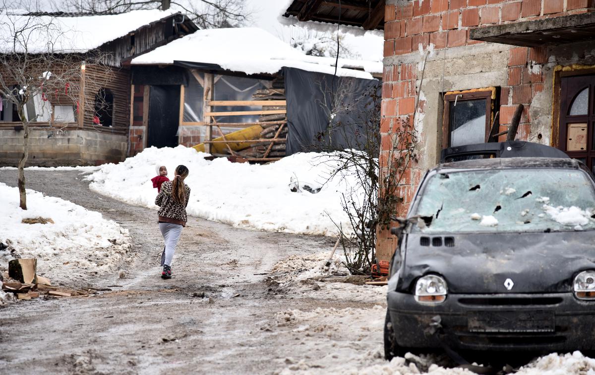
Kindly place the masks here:
<instances>
[{"instance_id":1,"label":"bare tree branches against the sky behind the leftmost house's roof","mask_svg":"<svg viewBox=\"0 0 595 375\"><path fill-rule=\"evenodd\" d=\"M248 21L243 0L64 0L54 1L57 11L92 14L121 13L136 9L180 9L200 28L238 27Z\"/></svg>"}]
</instances>

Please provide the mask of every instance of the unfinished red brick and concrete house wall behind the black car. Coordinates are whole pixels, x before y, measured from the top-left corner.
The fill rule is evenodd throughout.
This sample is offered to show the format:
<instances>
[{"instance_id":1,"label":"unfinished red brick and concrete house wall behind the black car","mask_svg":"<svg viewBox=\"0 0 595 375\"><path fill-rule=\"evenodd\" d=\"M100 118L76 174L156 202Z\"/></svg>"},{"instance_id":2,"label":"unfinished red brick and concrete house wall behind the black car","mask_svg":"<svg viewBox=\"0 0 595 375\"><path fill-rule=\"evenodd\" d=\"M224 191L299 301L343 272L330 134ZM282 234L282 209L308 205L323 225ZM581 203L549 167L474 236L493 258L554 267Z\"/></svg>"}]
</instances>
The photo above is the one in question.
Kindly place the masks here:
<instances>
[{"instance_id":1,"label":"unfinished red brick and concrete house wall behind the black car","mask_svg":"<svg viewBox=\"0 0 595 375\"><path fill-rule=\"evenodd\" d=\"M387 145L394 129L414 122L418 161L405 174L397 205L404 216L423 174L436 166L442 145L443 93L497 87L500 131L524 104L516 139L557 145L552 111L553 82L561 66L595 64L592 42L552 47L515 47L469 39L469 30L593 10L590 0L387 0L384 27L381 167L390 163ZM425 61L424 65L424 59ZM424 77L421 82L421 77ZM415 100L419 106L415 113ZM414 120L415 119L415 120ZM377 254L392 255L394 239L378 233Z\"/></svg>"}]
</instances>

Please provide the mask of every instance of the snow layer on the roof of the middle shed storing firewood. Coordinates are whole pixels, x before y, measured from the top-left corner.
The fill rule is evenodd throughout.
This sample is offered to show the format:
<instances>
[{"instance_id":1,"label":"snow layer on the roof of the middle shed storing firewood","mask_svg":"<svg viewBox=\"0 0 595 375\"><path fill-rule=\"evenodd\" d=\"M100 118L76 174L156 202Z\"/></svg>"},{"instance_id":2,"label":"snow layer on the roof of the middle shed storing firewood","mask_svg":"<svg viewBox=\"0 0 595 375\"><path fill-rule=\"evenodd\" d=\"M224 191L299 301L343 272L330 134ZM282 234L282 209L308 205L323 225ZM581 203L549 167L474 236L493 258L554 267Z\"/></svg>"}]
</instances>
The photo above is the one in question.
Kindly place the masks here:
<instances>
[{"instance_id":1,"label":"snow layer on the roof of the middle shed storing firewood","mask_svg":"<svg viewBox=\"0 0 595 375\"><path fill-rule=\"evenodd\" d=\"M173 64L174 61L212 63L245 74L275 74L281 68L334 73L334 58L308 56L261 28L198 30L134 58L133 65ZM372 78L382 63L339 59L337 75ZM356 69L364 69L359 71Z\"/></svg>"}]
</instances>

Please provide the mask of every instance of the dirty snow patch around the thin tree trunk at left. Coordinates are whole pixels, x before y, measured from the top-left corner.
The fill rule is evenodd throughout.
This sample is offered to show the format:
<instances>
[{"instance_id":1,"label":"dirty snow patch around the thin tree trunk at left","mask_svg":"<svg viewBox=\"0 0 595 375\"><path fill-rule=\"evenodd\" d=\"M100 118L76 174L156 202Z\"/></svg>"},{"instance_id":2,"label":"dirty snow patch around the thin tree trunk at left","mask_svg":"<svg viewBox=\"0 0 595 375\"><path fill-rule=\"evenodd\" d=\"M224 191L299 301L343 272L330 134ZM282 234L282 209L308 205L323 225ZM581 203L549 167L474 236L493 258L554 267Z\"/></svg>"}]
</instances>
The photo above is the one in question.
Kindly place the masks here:
<instances>
[{"instance_id":1,"label":"dirty snow patch around the thin tree trunk at left","mask_svg":"<svg viewBox=\"0 0 595 375\"><path fill-rule=\"evenodd\" d=\"M60 198L27 189L27 209L18 205L18 189L0 183L0 269L8 260L37 258L37 273L53 282L113 271L130 250L128 230L99 212ZM46 224L24 224L24 219L51 219Z\"/></svg>"}]
</instances>

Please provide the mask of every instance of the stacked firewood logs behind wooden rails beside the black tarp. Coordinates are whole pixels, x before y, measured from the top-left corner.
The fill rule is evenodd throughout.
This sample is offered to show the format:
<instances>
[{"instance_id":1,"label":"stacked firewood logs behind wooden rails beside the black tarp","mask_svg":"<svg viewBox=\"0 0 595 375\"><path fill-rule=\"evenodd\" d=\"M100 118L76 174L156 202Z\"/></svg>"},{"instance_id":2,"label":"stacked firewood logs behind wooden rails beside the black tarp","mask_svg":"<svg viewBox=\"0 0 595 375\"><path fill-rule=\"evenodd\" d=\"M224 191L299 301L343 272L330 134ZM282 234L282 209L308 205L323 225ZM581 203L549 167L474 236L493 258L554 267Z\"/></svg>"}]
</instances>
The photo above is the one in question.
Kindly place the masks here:
<instances>
[{"instance_id":1,"label":"stacked firewood logs behind wooden rails beside the black tarp","mask_svg":"<svg viewBox=\"0 0 595 375\"><path fill-rule=\"evenodd\" d=\"M285 82L283 78L275 78L271 88L262 88L252 95L254 100L285 100ZM262 110L286 110L286 106L267 106ZM260 139L271 139L270 142L258 142L243 151L238 151L245 158L281 158L284 157L287 139L287 113L279 115L262 115L258 122L262 126Z\"/></svg>"}]
</instances>

